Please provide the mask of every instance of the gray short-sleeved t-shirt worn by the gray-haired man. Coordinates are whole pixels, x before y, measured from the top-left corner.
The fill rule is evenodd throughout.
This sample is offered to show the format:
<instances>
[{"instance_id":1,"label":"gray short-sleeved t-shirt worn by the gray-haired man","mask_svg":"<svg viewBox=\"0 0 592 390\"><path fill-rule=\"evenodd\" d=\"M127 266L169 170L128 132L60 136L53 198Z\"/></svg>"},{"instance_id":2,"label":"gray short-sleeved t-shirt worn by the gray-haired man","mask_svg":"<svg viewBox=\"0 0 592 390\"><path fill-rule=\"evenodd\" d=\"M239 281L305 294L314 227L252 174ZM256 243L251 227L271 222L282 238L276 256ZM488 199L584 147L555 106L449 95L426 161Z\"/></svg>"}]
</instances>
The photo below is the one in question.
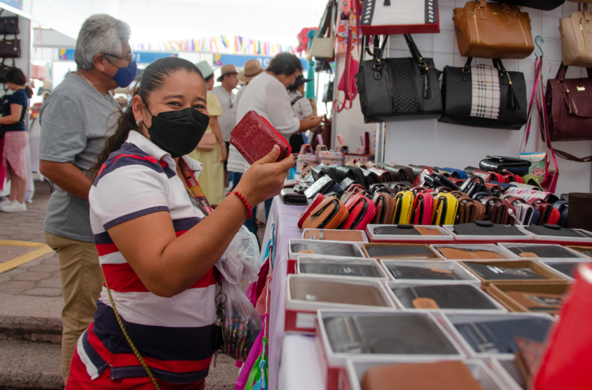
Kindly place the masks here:
<instances>
[{"instance_id":1,"label":"gray short-sleeved t-shirt worn by the gray-haired man","mask_svg":"<svg viewBox=\"0 0 592 390\"><path fill-rule=\"evenodd\" d=\"M86 173L113 134L120 114L111 97L70 73L49 94L40 110L39 159L71 162ZM94 242L88 201L56 187L45 212L45 231L72 240Z\"/></svg>"}]
</instances>

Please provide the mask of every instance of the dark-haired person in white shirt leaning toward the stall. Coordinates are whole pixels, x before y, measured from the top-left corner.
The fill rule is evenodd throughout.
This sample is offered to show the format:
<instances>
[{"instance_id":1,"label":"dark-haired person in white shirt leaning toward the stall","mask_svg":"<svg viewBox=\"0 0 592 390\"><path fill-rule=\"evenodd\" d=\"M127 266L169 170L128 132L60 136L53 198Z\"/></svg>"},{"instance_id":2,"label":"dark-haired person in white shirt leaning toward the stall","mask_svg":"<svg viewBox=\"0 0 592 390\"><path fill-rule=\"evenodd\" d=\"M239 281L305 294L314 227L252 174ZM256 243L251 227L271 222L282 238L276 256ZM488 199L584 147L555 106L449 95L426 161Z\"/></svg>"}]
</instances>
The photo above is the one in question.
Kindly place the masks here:
<instances>
[{"instance_id":1,"label":"dark-haired person in white shirt leaning toward the stall","mask_svg":"<svg viewBox=\"0 0 592 390\"><path fill-rule=\"evenodd\" d=\"M244 90L237 107L236 123L239 123L247 112L254 110L263 116L283 137L290 138L290 135L297 132L304 132L313 129L320 124L320 118L299 119L294 116L290 106L290 98L286 88L294 84L296 77L302 73L302 63L297 56L291 53L280 53L270 61L265 72L255 77L249 83L249 88ZM240 155L234 146L231 146L228 153L228 172L233 172L234 182L237 185L242 173L249 168L247 161ZM269 214L271 199L265 201L265 216ZM255 212L253 213L255 215ZM254 219L254 218L253 218ZM256 221L252 221L253 224ZM245 226L256 233L249 226L250 220Z\"/></svg>"}]
</instances>

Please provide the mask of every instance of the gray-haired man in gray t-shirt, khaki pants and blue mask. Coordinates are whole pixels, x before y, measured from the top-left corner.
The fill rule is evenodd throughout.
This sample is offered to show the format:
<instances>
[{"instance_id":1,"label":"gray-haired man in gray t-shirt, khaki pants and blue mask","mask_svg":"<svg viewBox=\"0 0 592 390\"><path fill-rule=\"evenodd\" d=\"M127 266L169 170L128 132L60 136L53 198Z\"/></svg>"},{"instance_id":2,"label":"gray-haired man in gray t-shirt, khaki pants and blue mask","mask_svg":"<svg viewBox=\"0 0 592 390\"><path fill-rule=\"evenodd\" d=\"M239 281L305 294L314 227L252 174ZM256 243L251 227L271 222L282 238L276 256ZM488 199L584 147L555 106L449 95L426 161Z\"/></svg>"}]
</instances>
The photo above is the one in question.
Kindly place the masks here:
<instances>
[{"instance_id":1,"label":"gray-haired man in gray t-shirt, khaki pants and blue mask","mask_svg":"<svg viewBox=\"0 0 592 390\"><path fill-rule=\"evenodd\" d=\"M109 15L93 15L82 24L68 74L40 110L40 172L58 187L45 212L45 239L58 253L62 310L62 374L78 338L93 320L102 288L96 244L109 244L91 231L86 171L104 147L120 114L110 90L126 87L136 76L130 26ZM108 247L108 245L105 245Z\"/></svg>"}]
</instances>

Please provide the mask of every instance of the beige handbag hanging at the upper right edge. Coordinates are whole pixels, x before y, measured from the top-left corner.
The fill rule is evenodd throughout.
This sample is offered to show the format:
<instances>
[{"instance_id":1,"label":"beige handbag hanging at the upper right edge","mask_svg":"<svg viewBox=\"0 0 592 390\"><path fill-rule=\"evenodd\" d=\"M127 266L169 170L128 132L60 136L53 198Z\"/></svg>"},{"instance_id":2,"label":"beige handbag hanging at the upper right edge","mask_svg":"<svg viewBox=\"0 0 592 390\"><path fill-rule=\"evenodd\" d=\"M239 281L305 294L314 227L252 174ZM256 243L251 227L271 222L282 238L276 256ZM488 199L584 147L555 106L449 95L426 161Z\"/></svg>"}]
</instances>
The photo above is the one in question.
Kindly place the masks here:
<instances>
[{"instance_id":1,"label":"beige handbag hanging at the upper right edge","mask_svg":"<svg viewBox=\"0 0 592 390\"><path fill-rule=\"evenodd\" d=\"M592 68L592 53L587 50L592 47L590 19L588 4L584 3L582 10L577 10L570 17L562 17L559 20L564 65Z\"/></svg>"}]
</instances>

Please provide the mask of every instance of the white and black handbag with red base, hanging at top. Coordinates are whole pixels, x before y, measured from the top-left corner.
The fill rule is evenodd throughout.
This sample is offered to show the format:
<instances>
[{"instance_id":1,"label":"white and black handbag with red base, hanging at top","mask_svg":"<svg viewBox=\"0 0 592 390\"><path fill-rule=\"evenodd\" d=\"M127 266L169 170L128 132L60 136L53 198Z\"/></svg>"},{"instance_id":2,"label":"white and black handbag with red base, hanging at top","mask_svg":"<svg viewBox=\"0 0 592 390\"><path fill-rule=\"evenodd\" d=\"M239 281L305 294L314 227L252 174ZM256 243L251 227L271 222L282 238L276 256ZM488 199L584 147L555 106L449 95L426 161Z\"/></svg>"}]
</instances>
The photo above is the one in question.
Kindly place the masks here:
<instances>
[{"instance_id":1,"label":"white and black handbag with red base, hanging at top","mask_svg":"<svg viewBox=\"0 0 592 390\"><path fill-rule=\"evenodd\" d=\"M438 0L364 0L359 25L366 36L439 33Z\"/></svg>"}]
</instances>

